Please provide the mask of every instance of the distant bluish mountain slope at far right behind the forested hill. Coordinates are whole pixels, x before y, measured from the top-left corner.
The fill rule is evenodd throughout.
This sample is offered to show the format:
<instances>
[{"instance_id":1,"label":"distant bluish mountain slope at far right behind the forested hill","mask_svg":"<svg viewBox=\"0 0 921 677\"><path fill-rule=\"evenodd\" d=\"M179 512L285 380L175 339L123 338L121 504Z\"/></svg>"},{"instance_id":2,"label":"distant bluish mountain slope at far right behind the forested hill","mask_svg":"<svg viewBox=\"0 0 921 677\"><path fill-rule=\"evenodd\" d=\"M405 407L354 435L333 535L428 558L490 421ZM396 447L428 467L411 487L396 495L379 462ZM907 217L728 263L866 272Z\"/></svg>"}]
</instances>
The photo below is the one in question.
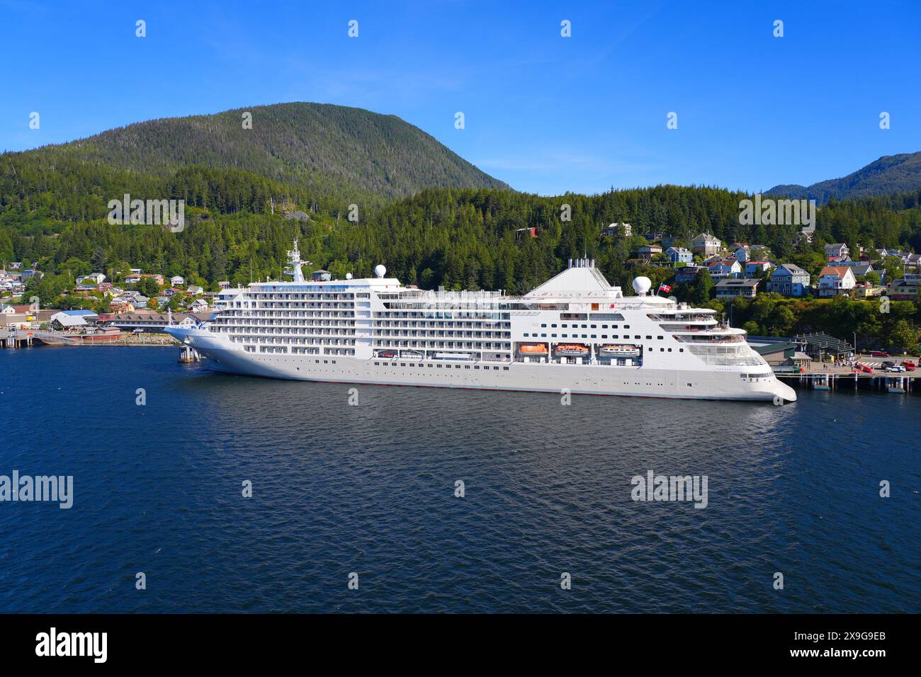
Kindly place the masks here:
<instances>
[{"instance_id":1,"label":"distant bluish mountain slope at far right behind the forested hill","mask_svg":"<svg viewBox=\"0 0 921 677\"><path fill-rule=\"evenodd\" d=\"M825 204L830 199L909 193L921 189L921 151L887 155L841 179L820 181L810 186L797 183L775 186L765 194L805 197Z\"/></svg>"}]
</instances>

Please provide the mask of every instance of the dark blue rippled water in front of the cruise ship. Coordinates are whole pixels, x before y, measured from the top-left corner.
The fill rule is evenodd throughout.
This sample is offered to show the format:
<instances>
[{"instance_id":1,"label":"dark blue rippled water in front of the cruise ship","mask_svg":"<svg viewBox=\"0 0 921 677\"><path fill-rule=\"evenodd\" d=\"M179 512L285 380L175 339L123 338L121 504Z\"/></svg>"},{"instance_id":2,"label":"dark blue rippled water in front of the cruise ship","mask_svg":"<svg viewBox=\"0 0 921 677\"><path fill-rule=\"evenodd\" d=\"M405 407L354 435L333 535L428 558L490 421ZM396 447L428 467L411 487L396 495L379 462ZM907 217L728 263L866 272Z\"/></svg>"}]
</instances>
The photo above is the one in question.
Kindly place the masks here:
<instances>
[{"instance_id":1,"label":"dark blue rippled water in front of the cruise ship","mask_svg":"<svg viewBox=\"0 0 921 677\"><path fill-rule=\"evenodd\" d=\"M917 395L359 386L351 406L177 356L0 351L0 474L74 476L73 508L0 502L0 612L921 608ZM706 475L706 508L634 501L649 470Z\"/></svg>"}]
</instances>

